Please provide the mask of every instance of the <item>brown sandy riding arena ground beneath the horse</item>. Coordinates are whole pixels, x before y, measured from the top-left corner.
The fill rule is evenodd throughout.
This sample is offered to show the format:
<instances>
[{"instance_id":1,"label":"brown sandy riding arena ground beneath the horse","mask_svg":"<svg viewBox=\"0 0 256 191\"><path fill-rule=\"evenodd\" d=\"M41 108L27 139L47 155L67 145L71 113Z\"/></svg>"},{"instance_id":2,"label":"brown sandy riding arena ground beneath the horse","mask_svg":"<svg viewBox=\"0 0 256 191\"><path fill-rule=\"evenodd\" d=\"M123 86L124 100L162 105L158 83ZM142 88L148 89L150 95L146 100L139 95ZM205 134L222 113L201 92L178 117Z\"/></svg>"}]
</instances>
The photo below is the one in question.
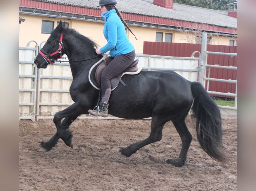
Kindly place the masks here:
<instances>
[{"instance_id":1,"label":"brown sandy riding arena ground beneath the horse","mask_svg":"<svg viewBox=\"0 0 256 191\"><path fill-rule=\"evenodd\" d=\"M172 122L163 137L128 158L119 149L143 140L151 120L77 119L73 149L59 139L56 147L40 152L40 142L56 132L51 119L19 120L19 190L24 191L234 191L237 190L237 116L222 116L227 163L211 159L200 147L194 122L187 161L182 167L166 163L176 158L181 139Z\"/></svg>"}]
</instances>

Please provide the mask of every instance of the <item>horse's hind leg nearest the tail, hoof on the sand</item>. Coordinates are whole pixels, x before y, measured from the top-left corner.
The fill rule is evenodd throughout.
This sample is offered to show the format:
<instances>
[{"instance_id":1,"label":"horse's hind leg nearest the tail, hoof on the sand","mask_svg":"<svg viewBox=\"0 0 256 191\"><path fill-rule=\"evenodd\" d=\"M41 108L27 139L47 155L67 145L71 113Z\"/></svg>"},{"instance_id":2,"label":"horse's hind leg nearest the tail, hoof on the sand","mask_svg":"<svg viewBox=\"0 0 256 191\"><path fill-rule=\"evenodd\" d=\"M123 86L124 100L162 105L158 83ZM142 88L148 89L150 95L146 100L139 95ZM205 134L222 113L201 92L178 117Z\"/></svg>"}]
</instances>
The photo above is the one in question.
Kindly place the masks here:
<instances>
[{"instance_id":1,"label":"horse's hind leg nearest the tail, hoof on the sand","mask_svg":"<svg viewBox=\"0 0 256 191\"><path fill-rule=\"evenodd\" d=\"M187 158L187 151L190 146L190 143L192 141L192 135L187 129L187 126L185 124L185 119L180 119L177 121L172 121L176 130L179 133L179 136L182 141L182 148L179 153L179 157L176 159L168 159L166 162L172 164L173 166L183 166L186 158Z\"/></svg>"}]
</instances>

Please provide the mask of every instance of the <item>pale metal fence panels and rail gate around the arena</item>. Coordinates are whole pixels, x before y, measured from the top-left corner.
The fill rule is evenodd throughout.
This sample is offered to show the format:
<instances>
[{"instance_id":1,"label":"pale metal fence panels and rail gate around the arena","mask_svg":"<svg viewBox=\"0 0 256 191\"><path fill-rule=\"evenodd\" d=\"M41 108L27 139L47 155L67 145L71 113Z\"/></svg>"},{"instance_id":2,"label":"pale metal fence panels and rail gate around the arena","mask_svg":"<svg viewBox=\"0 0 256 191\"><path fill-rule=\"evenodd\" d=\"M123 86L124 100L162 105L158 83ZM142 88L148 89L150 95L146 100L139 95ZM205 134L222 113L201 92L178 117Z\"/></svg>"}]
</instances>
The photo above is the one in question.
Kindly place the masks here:
<instances>
[{"instance_id":1,"label":"pale metal fence panels and rail gate around the arena","mask_svg":"<svg viewBox=\"0 0 256 191\"><path fill-rule=\"evenodd\" d=\"M30 47L32 42L35 43L34 47ZM56 112L74 103L69 93L72 74L68 62L55 63L46 69L37 69L34 65L34 58L42 43L38 46L35 41L30 41L26 47L19 47L19 119L31 119L33 121L52 119ZM222 53L207 52L203 46L202 52L203 54L194 52L191 57L137 54L136 58L139 59L138 65L143 70L173 70L189 81L200 81L202 84L206 84L206 81L209 83L209 81L216 80L237 84L237 80L209 78L210 68L224 66L207 65L207 54ZM199 53L199 58L194 57L196 53ZM237 55L232 54L231 56ZM205 76L206 69L208 69L208 77ZM237 70L237 67L229 67L229 69ZM208 92L209 94L235 96L235 107L220 107L237 109L237 90L236 94ZM79 118L91 117L81 115Z\"/></svg>"}]
</instances>

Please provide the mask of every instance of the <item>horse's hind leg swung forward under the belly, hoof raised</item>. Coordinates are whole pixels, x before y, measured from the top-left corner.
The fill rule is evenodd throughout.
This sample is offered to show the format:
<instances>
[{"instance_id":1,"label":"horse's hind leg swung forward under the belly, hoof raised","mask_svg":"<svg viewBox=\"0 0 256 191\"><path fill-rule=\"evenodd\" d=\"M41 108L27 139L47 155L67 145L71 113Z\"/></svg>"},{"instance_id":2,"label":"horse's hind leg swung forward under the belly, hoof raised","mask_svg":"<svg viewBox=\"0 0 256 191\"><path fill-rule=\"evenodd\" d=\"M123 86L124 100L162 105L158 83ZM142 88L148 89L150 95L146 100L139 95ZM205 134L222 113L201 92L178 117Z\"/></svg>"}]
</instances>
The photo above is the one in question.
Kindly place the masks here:
<instances>
[{"instance_id":1,"label":"horse's hind leg swung forward under the belly, hoof raised","mask_svg":"<svg viewBox=\"0 0 256 191\"><path fill-rule=\"evenodd\" d=\"M166 120L159 119L157 117L152 116L151 120L151 132L148 138L145 140L139 141L137 143L133 143L126 148L122 148L120 150L121 154L119 155L122 158L129 157L133 153L135 153L138 149L142 148L145 145L150 143L160 141L162 139L162 130L163 125L165 124Z\"/></svg>"}]
</instances>

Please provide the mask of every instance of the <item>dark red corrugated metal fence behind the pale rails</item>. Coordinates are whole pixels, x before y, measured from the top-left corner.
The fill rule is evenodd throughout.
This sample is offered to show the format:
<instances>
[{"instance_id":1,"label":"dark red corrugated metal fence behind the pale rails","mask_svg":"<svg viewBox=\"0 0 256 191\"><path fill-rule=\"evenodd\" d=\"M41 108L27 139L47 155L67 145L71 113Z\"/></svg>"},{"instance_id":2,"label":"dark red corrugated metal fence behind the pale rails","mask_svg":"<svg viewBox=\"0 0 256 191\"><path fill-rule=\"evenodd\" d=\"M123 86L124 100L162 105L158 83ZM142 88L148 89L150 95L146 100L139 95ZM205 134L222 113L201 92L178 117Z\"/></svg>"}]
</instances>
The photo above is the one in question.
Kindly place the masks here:
<instances>
[{"instance_id":1,"label":"dark red corrugated metal fence behind the pale rails","mask_svg":"<svg viewBox=\"0 0 256 191\"><path fill-rule=\"evenodd\" d=\"M208 34L209 40L209 34ZM204 41L203 41L204 42ZM204 43L203 43L204 44ZM202 61L204 52L202 51L201 44L189 44L189 43L165 43L165 42L144 42L143 43L143 54L159 55L159 56L175 56L175 57L191 57L191 53L200 52L202 53ZM224 45L213 45L207 44L207 51L218 52L220 54L207 54L207 64L209 65L220 65L220 66L234 66L237 67L237 57L230 56L221 53L237 53L237 46L224 46ZM196 54L198 55L198 54ZM203 71L202 71L203 72ZM207 72L208 73L208 70ZM208 76L208 75L207 75ZM202 76L203 78L203 76ZM237 71L229 70L225 68L212 68L210 78L217 79L232 79L237 80ZM209 91L213 92L230 92L235 94L236 84L210 81L207 86ZM211 94L212 96L219 96ZM221 95L222 97L235 98L234 96Z\"/></svg>"}]
</instances>

